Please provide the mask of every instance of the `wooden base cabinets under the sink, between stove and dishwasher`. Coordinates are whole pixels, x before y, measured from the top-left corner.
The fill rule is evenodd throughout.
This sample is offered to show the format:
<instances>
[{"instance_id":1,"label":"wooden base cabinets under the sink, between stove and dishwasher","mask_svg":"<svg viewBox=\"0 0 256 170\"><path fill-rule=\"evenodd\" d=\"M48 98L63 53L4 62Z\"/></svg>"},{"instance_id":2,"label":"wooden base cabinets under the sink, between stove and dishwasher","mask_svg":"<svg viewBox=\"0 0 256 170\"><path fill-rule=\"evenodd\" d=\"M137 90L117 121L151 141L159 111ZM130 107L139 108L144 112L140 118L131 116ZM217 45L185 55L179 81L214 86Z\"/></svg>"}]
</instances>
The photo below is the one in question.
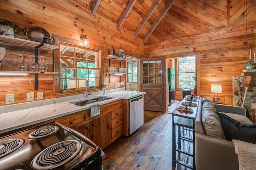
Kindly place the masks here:
<instances>
[{"instance_id":1,"label":"wooden base cabinets under the sink, between stove and dishwasher","mask_svg":"<svg viewBox=\"0 0 256 170\"><path fill-rule=\"evenodd\" d=\"M122 136L123 102L118 100L100 106L100 115L90 117L90 109L46 121L58 121L86 136L102 149Z\"/></svg>"}]
</instances>

